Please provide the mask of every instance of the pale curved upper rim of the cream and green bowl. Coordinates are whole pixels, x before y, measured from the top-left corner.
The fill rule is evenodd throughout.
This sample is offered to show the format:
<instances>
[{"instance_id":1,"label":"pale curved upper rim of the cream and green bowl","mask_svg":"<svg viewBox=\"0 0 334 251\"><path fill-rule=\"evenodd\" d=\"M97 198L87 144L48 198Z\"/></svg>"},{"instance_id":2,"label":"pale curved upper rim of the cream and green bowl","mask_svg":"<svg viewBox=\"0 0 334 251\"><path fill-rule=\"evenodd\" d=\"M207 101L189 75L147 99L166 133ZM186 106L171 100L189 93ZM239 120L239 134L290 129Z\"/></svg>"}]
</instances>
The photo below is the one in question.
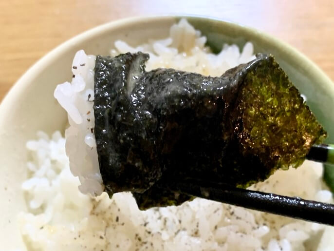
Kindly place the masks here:
<instances>
[{"instance_id":1,"label":"pale curved upper rim of the cream and green bowl","mask_svg":"<svg viewBox=\"0 0 334 251\"><path fill-rule=\"evenodd\" d=\"M325 85L325 88L332 89L332 92L334 93L334 83L328 77L322 69L320 69L319 66L317 66L310 58L305 56L303 53L298 51L295 47L288 44L287 42L276 38L275 36L269 35L266 32L262 32L256 28L248 27L243 24L232 22L229 20L219 19L219 18L213 18L208 16L200 16L200 15L162 15L162 16L137 16L137 17L131 17L131 18L125 18L125 19L118 19L113 20L104 24L100 24L96 27L93 27L87 31L84 31L71 39L68 39L61 43L60 45L56 46L53 50L48 52L46 55L44 55L42 58L38 59L37 62L35 62L19 79L13 84L13 86L10 88L10 90L7 92L5 97L1 100L0 103L0 115L4 112L6 109L6 104L9 104L11 100L15 97L17 97L20 92L23 92L25 87L29 84L29 79L32 79L36 77L36 75L39 74L40 71L45 68L44 66L47 65L47 62L53 61L56 59L57 55L62 52L66 51L68 48L71 48L71 46L75 45L77 42L84 40L89 37L94 37L99 33L105 32L108 29L121 27L121 26L127 26L131 25L133 23L137 22L143 22L143 21L166 21L170 19L181 19L181 18L191 18L191 19L202 19L202 20L210 20L210 21L216 21L216 22L222 22L225 25L229 25L232 28L238 28L243 31L247 31L250 33L255 34L256 36L262 37L262 39L265 39L268 41L269 44L275 47L281 47L286 53L292 55L292 58L294 58L295 61L302 61L304 64L308 66L309 69L313 71L313 74L315 74L315 77L318 79L321 79L321 82Z\"/></svg>"}]
</instances>

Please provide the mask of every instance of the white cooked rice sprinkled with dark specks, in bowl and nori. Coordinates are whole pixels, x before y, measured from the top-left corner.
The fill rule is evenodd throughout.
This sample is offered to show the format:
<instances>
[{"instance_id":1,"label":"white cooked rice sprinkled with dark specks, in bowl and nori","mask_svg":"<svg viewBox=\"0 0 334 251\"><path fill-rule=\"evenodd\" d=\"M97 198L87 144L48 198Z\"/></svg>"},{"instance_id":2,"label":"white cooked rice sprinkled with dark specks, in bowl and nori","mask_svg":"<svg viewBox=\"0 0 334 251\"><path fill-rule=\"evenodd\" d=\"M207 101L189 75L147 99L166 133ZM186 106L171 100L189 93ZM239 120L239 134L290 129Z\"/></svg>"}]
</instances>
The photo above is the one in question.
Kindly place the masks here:
<instances>
[{"instance_id":1,"label":"white cooked rice sprinkled with dark specks, in bowl and nori","mask_svg":"<svg viewBox=\"0 0 334 251\"><path fill-rule=\"evenodd\" d=\"M181 20L171 27L170 38L136 48L116 41L111 55L144 51L150 54L148 70L171 67L211 76L254 58L251 43L241 53L236 45L224 45L214 55L204 47L205 40ZM19 214L19 224L29 249L303 251L311 250L312 244L316 250L318 235L325 228L316 223L199 198L178 207L139 211L131 193L116 193L111 199L102 193L91 132L94 59L79 51L74 57L72 84L66 82L55 91L69 114L66 143L59 132L51 138L38 132L37 140L27 142L30 176L22 189L29 212ZM332 194L322 187L321 175L320 164L305 161L297 170L278 171L251 189L332 202ZM102 194L91 197L87 193Z\"/></svg>"}]
</instances>

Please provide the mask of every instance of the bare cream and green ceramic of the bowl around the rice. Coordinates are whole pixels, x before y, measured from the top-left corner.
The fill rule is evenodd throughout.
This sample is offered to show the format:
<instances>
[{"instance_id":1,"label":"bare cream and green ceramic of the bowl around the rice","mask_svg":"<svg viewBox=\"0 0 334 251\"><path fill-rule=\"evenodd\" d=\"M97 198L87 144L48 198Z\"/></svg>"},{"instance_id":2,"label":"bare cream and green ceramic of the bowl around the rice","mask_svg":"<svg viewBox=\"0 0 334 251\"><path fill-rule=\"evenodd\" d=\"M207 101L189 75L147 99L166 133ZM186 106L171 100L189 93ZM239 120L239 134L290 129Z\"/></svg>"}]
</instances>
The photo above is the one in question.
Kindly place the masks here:
<instances>
[{"instance_id":1,"label":"bare cream and green ceramic of the bowl around the rice","mask_svg":"<svg viewBox=\"0 0 334 251\"><path fill-rule=\"evenodd\" d=\"M67 117L53 97L56 84L71 80L71 65L77 50L87 54L109 54L116 39L137 45L168 36L169 27L180 17L151 17L120 20L99 26L57 47L24 74L0 105L0 226L5 230L0 243L5 250L24 249L16 216L25 210L20 184L26 178L25 142L38 130L49 134L64 131ZM215 19L187 17L207 36L208 44L218 51L224 42L242 46L246 41L256 52L271 53L287 72L307 103L334 141L334 85L310 60L281 41L256 30Z\"/></svg>"}]
</instances>

